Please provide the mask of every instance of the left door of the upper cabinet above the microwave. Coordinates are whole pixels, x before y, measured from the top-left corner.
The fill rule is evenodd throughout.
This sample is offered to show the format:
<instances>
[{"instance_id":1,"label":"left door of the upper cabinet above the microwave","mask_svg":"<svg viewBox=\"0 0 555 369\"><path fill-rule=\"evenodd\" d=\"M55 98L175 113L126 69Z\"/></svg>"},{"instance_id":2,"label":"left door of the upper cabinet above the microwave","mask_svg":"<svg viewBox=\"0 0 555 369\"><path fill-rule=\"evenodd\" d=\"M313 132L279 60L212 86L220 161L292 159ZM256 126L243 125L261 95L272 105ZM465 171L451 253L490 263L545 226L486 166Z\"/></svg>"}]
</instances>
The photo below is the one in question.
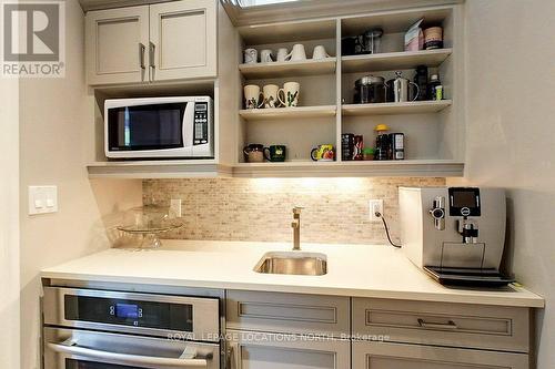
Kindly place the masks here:
<instances>
[{"instance_id":1,"label":"left door of the upper cabinet above the microwave","mask_svg":"<svg viewBox=\"0 0 555 369\"><path fill-rule=\"evenodd\" d=\"M148 6L90 11L85 34L89 84L148 81Z\"/></svg>"}]
</instances>

